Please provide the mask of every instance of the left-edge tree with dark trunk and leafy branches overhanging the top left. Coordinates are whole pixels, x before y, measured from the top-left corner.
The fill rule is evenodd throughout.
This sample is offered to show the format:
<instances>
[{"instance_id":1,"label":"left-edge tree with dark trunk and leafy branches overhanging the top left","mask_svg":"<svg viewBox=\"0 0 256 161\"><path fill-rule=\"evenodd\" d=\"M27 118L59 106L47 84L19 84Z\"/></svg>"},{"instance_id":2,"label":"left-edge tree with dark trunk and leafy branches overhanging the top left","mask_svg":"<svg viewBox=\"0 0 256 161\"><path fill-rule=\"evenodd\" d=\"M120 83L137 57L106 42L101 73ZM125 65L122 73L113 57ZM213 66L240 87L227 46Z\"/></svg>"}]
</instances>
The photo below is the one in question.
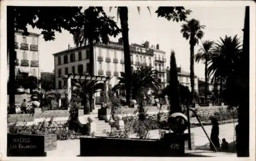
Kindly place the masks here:
<instances>
[{"instance_id":1,"label":"left-edge tree with dark trunk and leafy branches overhanging the top left","mask_svg":"<svg viewBox=\"0 0 256 161\"><path fill-rule=\"evenodd\" d=\"M7 48L9 57L9 83L15 83L15 59L14 49L15 31L23 31L23 35L28 36L27 26L42 30L45 41L55 39L55 31L61 33L61 29L70 31L77 26L80 21L76 20L80 14L81 7L7 7ZM15 88L10 86L9 102L15 103Z\"/></svg>"}]
</instances>

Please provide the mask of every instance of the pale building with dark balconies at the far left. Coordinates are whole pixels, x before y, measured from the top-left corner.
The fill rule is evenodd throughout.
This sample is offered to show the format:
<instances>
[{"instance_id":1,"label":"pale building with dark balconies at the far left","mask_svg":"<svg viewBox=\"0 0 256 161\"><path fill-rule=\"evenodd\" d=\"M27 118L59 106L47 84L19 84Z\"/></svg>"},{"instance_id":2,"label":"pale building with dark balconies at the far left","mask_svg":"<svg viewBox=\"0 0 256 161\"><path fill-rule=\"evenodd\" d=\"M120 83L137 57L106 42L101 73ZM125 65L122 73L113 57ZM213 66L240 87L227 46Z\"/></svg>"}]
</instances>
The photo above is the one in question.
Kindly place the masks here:
<instances>
[{"instance_id":1,"label":"pale building with dark balconies at the far left","mask_svg":"<svg viewBox=\"0 0 256 161\"><path fill-rule=\"evenodd\" d=\"M29 36L23 36L22 31L15 32L15 77L23 78L27 76L40 76L39 50L38 41L39 34L30 33ZM9 58L8 72L9 72Z\"/></svg>"}]
</instances>

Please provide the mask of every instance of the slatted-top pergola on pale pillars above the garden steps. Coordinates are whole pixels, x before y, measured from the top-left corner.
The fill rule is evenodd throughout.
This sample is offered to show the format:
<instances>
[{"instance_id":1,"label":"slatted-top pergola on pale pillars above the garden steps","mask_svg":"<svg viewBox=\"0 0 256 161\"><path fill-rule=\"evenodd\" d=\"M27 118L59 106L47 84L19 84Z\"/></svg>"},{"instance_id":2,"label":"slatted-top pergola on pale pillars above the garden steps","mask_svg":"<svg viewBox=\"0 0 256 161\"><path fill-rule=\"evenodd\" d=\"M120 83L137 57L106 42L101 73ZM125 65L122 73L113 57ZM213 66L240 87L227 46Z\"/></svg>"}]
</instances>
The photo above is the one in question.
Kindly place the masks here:
<instances>
[{"instance_id":1,"label":"slatted-top pergola on pale pillars above the garden steps","mask_svg":"<svg viewBox=\"0 0 256 161\"><path fill-rule=\"evenodd\" d=\"M109 76L100 76L100 75L84 75L84 74L60 74L60 76L63 79L67 79L66 81L66 102L67 104L70 104L71 101L71 96L72 96L72 90L71 90L71 79L78 79L78 80L84 80L84 81L103 81L104 87L103 87L103 92L104 92L104 102L108 100L108 87L109 87L109 80L111 77Z\"/></svg>"}]
</instances>

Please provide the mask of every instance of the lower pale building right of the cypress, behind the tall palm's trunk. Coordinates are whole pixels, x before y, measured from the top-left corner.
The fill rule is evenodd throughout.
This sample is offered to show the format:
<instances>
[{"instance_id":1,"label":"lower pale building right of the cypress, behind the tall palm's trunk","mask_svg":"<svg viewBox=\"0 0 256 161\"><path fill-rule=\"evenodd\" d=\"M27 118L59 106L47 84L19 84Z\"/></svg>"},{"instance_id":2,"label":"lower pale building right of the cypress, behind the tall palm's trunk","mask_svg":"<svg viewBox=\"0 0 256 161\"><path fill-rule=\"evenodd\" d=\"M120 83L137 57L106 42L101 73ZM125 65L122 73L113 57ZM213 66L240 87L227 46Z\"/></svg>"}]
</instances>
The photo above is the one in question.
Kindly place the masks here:
<instances>
[{"instance_id":1,"label":"lower pale building right of the cypress, behind the tall palm's trunk","mask_svg":"<svg viewBox=\"0 0 256 161\"><path fill-rule=\"evenodd\" d=\"M181 67L178 67L177 71L178 71L178 81L180 82L180 84L183 85L183 86L188 87L188 89L191 91L190 73L186 72L186 71L183 71ZM169 72L170 71L167 67L167 72L166 72L167 82L169 82L169 79L170 79ZM196 75L195 75L195 91L198 92L198 78L197 78Z\"/></svg>"}]
</instances>

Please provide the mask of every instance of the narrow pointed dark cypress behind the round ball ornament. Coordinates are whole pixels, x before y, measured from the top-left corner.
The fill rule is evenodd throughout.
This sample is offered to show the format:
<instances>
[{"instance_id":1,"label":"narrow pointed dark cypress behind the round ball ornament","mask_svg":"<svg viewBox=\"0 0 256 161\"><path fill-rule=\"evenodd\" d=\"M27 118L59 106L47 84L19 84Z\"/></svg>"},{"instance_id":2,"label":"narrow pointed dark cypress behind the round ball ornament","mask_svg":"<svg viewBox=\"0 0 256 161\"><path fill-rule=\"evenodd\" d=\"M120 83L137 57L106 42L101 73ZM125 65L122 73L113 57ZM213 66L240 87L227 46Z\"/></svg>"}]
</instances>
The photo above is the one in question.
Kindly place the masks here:
<instances>
[{"instance_id":1,"label":"narrow pointed dark cypress behind the round ball ornament","mask_svg":"<svg viewBox=\"0 0 256 161\"><path fill-rule=\"evenodd\" d=\"M169 100L170 100L170 114L181 112L180 103L180 90L178 81L177 64L175 58L175 52L170 52L170 72L169 72Z\"/></svg>"}]
</instances>

